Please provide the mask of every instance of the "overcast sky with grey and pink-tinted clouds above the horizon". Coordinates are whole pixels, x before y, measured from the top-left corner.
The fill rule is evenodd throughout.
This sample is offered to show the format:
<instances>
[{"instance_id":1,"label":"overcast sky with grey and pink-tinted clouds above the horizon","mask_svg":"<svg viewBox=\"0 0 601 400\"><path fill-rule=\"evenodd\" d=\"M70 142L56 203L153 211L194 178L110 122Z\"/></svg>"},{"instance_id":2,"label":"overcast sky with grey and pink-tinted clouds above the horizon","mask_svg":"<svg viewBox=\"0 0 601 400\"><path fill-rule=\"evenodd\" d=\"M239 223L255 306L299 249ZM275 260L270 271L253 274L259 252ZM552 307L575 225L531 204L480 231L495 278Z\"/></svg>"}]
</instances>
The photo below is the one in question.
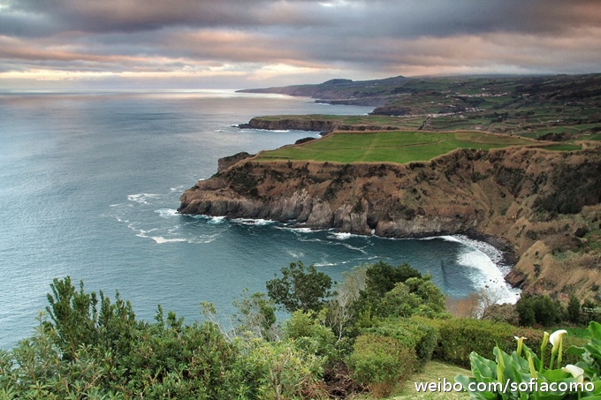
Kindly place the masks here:
<instances>
[{"instance_id":1,"label":"overcast sky with grey and pink-tinted clouds above the horizon","mask_svg":"<svg viewBox=\"0 0 601 400\"><path fill-rule=\"evenodd\" d=\"M590 72L601 0L0 0L0 89Z\"/></svg>"}]
</instances>

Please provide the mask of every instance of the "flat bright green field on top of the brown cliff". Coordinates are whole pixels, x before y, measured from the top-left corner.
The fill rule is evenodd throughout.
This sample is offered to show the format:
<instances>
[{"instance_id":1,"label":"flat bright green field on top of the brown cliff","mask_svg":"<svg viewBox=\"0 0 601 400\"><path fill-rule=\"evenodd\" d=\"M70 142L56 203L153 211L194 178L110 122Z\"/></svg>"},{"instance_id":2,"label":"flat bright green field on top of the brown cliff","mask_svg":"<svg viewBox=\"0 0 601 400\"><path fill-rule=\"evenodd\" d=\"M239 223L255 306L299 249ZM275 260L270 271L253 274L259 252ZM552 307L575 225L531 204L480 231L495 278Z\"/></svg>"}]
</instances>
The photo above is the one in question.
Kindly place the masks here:
<instances>
[{"instance_id":1,"label":"flat bright green field on top of the brown cliff","mask_svg":"<svg viewBox=\"0 0 601 400\"><path fill-rule=\"evenodd\" d=\"M318 162L428 161L456 148L532 145L520 137L484 132L335 132L320 140L263 152L259 160L312 160Z\"/></svg>"}]
</instances>

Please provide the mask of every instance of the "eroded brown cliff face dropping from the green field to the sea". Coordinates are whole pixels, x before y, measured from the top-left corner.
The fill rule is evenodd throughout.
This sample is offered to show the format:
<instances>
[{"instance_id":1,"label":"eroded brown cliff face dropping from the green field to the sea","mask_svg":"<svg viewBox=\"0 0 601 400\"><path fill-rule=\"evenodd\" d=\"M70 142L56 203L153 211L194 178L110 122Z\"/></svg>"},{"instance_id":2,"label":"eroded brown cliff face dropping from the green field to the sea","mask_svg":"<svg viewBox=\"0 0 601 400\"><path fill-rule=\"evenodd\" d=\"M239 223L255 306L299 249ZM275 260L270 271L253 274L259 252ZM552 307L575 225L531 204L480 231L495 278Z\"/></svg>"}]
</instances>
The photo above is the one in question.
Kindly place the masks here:
<instances>
[{"instance_id":1,"label":"eroded brown cliff face dropping from the green field to the sea","mask_svg":"<svg viewBox=\"0 0 601 400\"><path fill-rule=\"evenodd\" d=\"M601 228L599 198L597 150L506 148L404 165L247 159L184 192L179 212L394 238L479 233L518 257L508 279L525 291L590 294L601 283L598 252L574 232ZM556 260L558 252L573 261ZM572 280L557 283L568 267Z\"/></svg>"}]
</instances>

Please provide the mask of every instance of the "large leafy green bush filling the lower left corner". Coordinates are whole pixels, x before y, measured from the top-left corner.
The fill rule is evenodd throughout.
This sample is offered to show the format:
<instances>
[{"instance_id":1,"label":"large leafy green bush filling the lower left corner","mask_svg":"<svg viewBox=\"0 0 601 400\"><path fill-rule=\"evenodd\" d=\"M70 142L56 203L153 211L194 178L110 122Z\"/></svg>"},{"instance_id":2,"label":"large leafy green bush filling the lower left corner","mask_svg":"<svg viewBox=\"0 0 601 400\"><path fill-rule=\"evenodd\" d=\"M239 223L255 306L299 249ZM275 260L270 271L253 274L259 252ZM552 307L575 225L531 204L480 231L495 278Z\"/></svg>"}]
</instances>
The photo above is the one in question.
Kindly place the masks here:
<instances>
[{"instance_id":1,"label":"large leafy green bush filling the lower left corner","mask_svg":"<svg viewBox=\"0 0 601 400\"><path fill-rule=\"evenodd\" d=\"M253 398L239 348L215 323L165 320L160 306L155 323L136 321L102 292L98 310L68 277L51 289L49 321L0 359L2 398Z\"/></svg>"}]
</instances>

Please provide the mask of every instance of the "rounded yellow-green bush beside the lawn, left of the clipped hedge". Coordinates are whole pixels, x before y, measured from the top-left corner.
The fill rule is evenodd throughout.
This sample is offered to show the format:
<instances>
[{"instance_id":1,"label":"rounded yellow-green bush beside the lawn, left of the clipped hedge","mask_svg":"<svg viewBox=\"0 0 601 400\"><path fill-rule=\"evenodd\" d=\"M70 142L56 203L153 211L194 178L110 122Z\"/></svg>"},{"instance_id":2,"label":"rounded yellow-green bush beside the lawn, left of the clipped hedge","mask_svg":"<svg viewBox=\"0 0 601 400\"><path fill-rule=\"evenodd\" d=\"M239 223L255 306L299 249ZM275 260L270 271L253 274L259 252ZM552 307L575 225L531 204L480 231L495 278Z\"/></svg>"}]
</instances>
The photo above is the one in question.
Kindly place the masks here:
<instances>
[{"instance_id":1,"label":"rounded yellow-green bush beside the lawn, left of the clipped hedge","mask_svg":"<svg viewBox=\"0 0 601 400\"><path fill-rule=\"evenodd\" d=\"M390 336L361 335L348 364L373 396L386 396L400 378L413 372L415 350Z\"/></svg>"}]
</instances>

